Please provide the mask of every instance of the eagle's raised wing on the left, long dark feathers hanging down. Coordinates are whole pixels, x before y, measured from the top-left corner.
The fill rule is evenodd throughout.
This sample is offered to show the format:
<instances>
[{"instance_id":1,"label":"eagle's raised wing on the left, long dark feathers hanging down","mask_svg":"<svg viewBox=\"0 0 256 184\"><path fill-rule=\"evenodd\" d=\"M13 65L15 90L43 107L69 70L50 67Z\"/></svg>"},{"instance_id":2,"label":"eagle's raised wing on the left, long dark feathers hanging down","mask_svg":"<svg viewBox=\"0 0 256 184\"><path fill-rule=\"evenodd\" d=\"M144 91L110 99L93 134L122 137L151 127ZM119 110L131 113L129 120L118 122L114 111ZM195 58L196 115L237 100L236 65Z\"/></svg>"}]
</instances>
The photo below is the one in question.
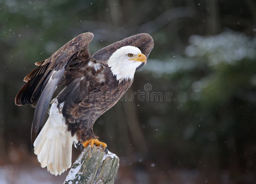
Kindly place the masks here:
<instances>
[{"instance_id":1,"label":"eagle's raised wing on the left, long dark feathers hanging down","mask_svg":"<svg viewBox=\"0 0 256 184\"><path fill-rule=\"evenodd\" d=\"M35 63L38 67L24 78L27 83L17 94L15 104L36 107L31 128L32 143L41 130L55 89L65 80L65 70L83 67L90 60L88 46L92 39L92 33L79 34L48 59Z\"/></svg>"}]
</instances>

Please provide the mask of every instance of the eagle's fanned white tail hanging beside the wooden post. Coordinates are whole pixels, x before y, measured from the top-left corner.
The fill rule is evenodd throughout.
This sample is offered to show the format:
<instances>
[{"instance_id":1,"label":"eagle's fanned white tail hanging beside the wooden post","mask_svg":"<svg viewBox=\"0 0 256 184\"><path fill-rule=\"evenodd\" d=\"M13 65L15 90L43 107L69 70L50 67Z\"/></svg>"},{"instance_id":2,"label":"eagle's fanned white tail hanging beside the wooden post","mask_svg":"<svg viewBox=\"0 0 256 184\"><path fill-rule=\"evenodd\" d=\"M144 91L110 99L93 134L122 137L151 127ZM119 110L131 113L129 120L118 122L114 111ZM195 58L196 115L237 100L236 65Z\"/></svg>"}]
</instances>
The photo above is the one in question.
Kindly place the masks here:
<instances>
[{"instance_id":1,"label":"eagle's fanned white tail hanging beside the wooden post","mask_svg":"<svg viewBox=\"0 0 256 184\"><path fill-rule=\"evenodd\" d=\"M54 99L50 110L50 116L34 142L35 154L42 167L58 175L71 167L72 144L76 142L76 136L72 137L67 131L65 118L57 107Z\"/></svg>"}]
</instances>

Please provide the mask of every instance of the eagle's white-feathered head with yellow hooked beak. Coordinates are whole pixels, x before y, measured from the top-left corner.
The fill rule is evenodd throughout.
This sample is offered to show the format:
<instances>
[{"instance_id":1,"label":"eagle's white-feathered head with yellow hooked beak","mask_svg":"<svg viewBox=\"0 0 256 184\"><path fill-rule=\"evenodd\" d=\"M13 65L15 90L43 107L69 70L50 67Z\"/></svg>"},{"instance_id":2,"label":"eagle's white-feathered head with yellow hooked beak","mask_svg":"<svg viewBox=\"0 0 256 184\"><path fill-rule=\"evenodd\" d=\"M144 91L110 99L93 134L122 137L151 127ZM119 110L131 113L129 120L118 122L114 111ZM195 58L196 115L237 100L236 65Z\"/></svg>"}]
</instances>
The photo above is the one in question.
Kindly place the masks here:
<instances>
[{"instance_id":1,"label":"eagle's white-feathered head with yellow hooked beak","mask_svg":"<svg viewBox=\"0 0 256 184\"><path fill-rule=\"evenodd\" d=\"M117 81L127 81L128 79L132 80L136 68L146 62L147 57L141 53L140 49L124 46L109 57L107 64Z\"/></svg>"}]
</instances>

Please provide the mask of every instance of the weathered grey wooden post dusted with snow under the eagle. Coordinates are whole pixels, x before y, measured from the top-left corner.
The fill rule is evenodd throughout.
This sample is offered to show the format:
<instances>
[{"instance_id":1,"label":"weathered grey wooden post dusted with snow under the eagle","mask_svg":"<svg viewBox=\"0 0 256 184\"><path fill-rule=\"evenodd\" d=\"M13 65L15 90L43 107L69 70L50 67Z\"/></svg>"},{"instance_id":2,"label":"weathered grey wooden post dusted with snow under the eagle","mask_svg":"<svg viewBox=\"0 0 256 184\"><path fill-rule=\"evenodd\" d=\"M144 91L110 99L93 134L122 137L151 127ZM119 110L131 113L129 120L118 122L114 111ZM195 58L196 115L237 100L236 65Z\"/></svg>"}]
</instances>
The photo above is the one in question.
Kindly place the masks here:
<instances>
[{"instance_id":1,"label":"weathered grey wooden post dusted with snow under the eagle","mask_svg":"<svg viewBox=\"0 0 256 184\"><path fill-rule=\"evenodd\" d=\"M86 147L70 169L64 184L113 184L119 158L102 147Z\"/></svg>"}]
</instances>

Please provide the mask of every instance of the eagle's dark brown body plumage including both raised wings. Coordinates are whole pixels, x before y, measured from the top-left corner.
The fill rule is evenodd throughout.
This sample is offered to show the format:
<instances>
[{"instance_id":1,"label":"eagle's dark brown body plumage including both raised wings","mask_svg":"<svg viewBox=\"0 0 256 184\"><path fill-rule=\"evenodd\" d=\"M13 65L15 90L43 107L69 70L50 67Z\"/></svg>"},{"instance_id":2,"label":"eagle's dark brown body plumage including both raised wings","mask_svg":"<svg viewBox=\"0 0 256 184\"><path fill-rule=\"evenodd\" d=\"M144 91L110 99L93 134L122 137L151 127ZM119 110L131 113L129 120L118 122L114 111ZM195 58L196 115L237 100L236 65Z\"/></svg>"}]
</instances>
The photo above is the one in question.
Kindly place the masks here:
<instances>
[{"instance_id":1,"label":"eagle's dark brown body plumage including both raised wings","mask_svg":"<svg viewBox=\"0 0 256 184\"><path fill-rule=\"evenodd\" d=\"M27 83L17 94L15 103L36 107L31 129L32 143L41 130L55 89L63 83L65 88L57 98L58 103L64 102L62 114L67 119L68 130L83 141L97 137L92 131L95 120L116 104L132 84L132 81L120 84L116 81L106 64L108 58L127 45L138 47L148 57L154 47L149 34L137 34L115 42L91 57L88 46L92 39L92 33L76 36L51 57L37 62L38 67L24 78ZM111 100L106 100L110 91Z\"/></svg>"}]
</instances>

